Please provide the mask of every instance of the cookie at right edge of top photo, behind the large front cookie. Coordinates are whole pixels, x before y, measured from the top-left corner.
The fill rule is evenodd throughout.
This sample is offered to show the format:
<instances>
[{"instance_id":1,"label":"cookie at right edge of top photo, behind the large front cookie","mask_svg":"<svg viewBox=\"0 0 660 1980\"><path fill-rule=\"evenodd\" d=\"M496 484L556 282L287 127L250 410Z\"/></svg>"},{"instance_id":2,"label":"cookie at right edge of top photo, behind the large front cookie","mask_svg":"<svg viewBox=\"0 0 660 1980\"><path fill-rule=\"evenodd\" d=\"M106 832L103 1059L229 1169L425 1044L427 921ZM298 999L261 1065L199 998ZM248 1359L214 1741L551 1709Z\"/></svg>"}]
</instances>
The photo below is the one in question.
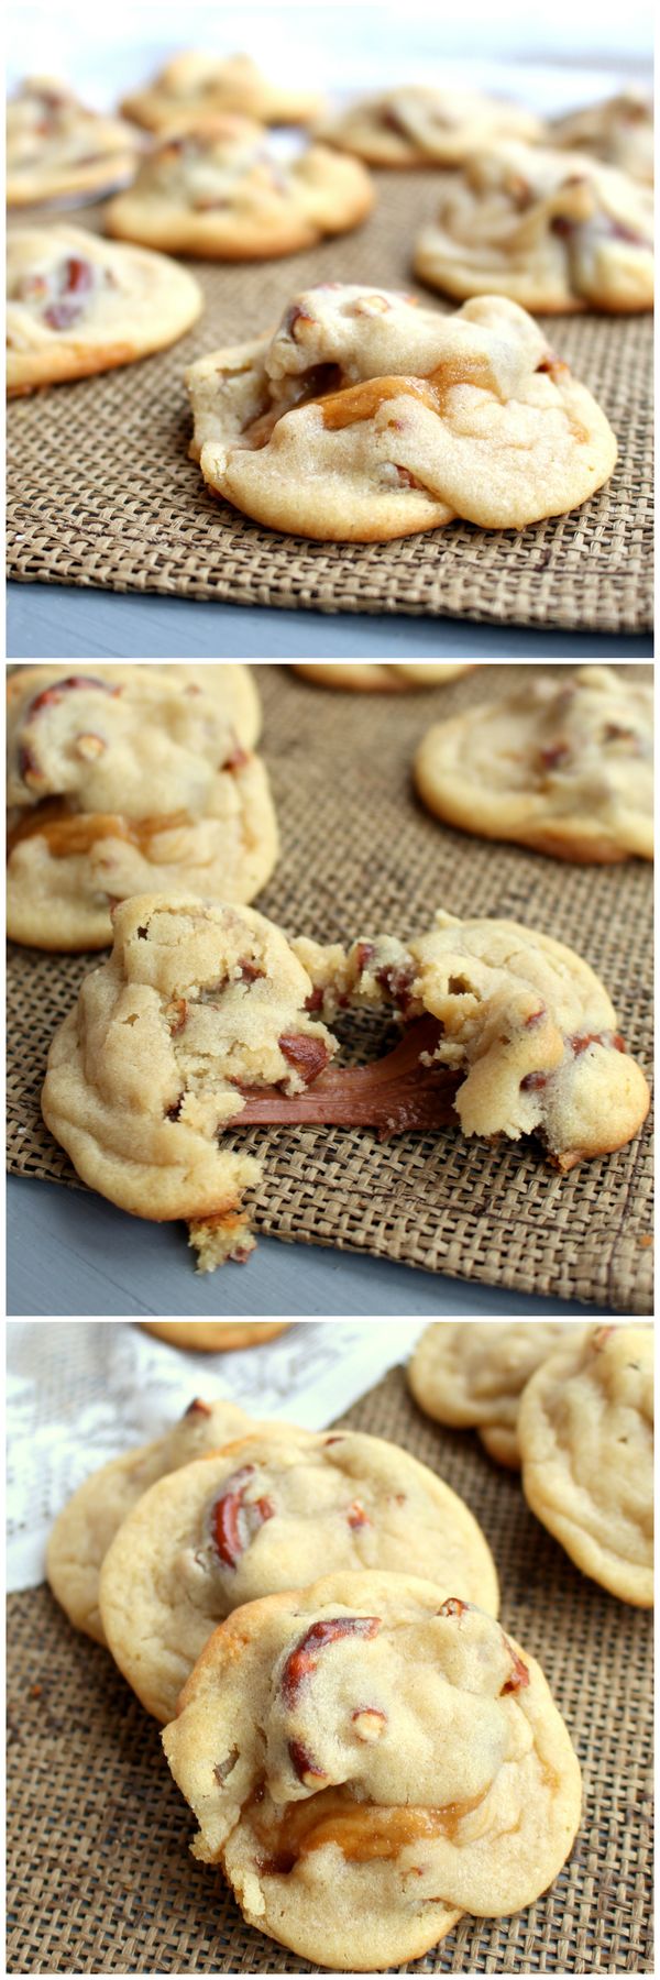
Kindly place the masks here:
<instances>
[{"instance_id":1,"label":"cookie at right edge of top photo, behind the large front cookie","mask_svg":"<svg viewBox=\"0 0 660 1980\"><path fill-rule=\"evenodd\" d=\"M567 315L654 305L652 194L583 152L495 145L442 188L414 248L432 289Z\"/></svg>"}]
</instances>

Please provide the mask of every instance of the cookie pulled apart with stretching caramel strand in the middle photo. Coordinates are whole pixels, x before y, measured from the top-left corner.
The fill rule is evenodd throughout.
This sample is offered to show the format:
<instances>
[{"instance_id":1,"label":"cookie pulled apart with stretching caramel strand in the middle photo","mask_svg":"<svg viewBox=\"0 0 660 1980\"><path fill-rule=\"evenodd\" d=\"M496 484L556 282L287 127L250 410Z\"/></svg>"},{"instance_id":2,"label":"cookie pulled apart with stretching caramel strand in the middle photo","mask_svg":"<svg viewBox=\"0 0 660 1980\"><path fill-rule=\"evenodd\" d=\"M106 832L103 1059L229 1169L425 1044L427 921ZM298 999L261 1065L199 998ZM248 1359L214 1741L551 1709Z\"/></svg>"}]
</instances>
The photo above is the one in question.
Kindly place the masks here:
<instances>
[{"instance_id":1,"label":"cookie pulled apart with stretching caramel strand in the middle photo","mask_svg":"<svg viewBox=\"0 0 660 1980\"><path fill-rule=\"evenodd\" d=\"M337 1010L390 1008L377 1063L335 1065ZM642 1069L587 962L511 921L438 913L410 944L323 948L248 907L141 895L55 1032L42 1099L77 1174L121 1210L184 1218L200 1269L254 1245L262 1176L224 1129L373 1127L519 1140L555 1168L620 1148L648 1111Z\"/></svg>"}]
</instances>

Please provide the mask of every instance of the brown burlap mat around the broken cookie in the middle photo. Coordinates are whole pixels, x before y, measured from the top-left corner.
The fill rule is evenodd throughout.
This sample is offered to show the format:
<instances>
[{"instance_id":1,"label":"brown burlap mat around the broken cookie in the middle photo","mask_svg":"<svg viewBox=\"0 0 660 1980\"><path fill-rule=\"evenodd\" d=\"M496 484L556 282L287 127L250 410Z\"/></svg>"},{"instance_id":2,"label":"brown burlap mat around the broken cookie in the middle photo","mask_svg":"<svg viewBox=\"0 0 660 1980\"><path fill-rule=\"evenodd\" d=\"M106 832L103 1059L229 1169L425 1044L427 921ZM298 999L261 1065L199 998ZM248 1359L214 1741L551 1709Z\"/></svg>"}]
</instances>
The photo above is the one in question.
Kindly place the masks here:
<instances>
[{"instance_id":1,"label":"brown burlap mat around the broken cookie in the middle photo","mask_svg":"<svg viewBox=\"0 0 660 1980\"><path fill-rule=\"evenodd\" d=\"M640 859L577 867L472 840L438 826L412 796L412 750L440 707L452 713L497 693L513 673L519 681L519 667L488 667L440 693L355 697L260 667L281 859L258 907L291 935L319 940L379 929L406 939L428 927L436 907L525 921L603 974L626 1043L650 1069L650 867ZM97 962L12 952L8 1150L18 1174L75 1182L42 1123L40 1089L54 1028ZM347 1038L357 1036L351 1020ZM252 1129L234 1131L232 1144L266 1154L256 1224L277 1238L620 1313L652 1311L648 1129L563 1178L531 1142L490 1148L450 1129L385 1142L351 1129Z\"/></svg>"}]
</instances>

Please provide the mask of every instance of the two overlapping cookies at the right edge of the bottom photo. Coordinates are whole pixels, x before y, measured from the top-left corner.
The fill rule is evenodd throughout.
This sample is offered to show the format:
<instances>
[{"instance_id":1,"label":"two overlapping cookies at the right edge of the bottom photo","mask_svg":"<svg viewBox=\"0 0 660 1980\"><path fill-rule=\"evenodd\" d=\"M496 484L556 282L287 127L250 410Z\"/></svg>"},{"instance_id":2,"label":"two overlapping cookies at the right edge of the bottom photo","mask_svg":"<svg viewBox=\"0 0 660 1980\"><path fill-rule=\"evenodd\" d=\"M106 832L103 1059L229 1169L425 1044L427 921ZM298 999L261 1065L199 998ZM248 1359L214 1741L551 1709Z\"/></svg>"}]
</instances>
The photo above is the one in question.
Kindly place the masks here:
<instances>
[{"instance_id":1,"label":"two overlapping cookies at the right edge of the bottom photo","mask_svg":"<svg viewBox=\"0 0 660 1980\"><path fill-rule=\"evenodd\" d=\"M497 1463L521 1469L531 1511L583 1574L652 1608L652 1327L440 1321L408 1380L428 1416L476 1428Z\"/></svg>"}]
</instances>

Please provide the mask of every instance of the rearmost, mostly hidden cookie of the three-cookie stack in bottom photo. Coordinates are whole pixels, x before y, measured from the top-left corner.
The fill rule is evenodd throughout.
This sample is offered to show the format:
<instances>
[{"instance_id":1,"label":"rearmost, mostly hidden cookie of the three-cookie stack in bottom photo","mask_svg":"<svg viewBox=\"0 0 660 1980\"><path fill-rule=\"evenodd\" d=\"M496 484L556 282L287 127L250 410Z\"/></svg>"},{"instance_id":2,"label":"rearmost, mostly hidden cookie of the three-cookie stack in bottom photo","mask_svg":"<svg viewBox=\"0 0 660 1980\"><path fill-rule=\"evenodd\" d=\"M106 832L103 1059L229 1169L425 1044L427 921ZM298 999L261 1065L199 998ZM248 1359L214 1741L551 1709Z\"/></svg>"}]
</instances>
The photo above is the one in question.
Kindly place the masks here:
<instances>
[{"instance_id":1,"label":"rearmost, mostly hidden cookie of the three-cookie stack in bottom photo","mask_svg":"<svg viewBox=\"0 0 660 1980\"><path fill-rule=\"evenodd\" d=\"M105 1643L99 1574L123 1519L143 1493L168 1471L178 1471L252 1428L250 1416L234 1402L190 1402L163 1437L113 1457L77 1487L55 1519L46 1554L50 1586L75 1630Z\"/></svg>"}]
</instances>

